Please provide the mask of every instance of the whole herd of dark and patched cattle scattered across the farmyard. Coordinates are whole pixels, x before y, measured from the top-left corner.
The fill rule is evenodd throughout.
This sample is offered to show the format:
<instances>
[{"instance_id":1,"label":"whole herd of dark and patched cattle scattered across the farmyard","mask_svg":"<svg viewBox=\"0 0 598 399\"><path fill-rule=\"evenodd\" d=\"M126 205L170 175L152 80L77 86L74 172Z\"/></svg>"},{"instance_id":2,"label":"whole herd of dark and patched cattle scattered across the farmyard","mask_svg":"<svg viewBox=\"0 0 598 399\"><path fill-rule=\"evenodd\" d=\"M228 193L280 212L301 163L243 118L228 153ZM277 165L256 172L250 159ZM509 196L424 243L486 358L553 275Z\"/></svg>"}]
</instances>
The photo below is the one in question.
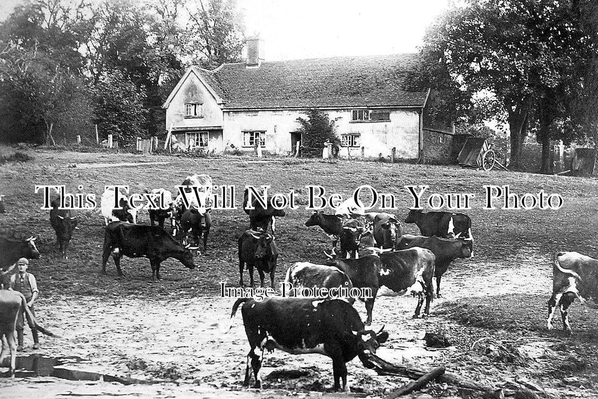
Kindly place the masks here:
<instances>
[{"instance_id":1,"label":"whole herd of dark and patched cattle scattered across the farmyard","mask_svg":"<svg viewBox=\"0 0 598 399\"><path fill-rule=\"evenodd\" d=\"M114 209L114 189L103 193L101 213L106 227L102 272L106 272L110 256L114 259L118 275L123 275L121 257L147 257L152 278L156 280L160 280L161 262L171 257L187 268L196 267L193 250L202 246L203 251L206 250L212 224L209 198L213 182L206 174L195 174L188 176L182 186L186 187L186 192L193 187L199 188L202 197L183 201L181 195L173 199L167 190L152 190L152 194L166 198L169 208L149 210L151 225L137 224L136 210L129 208L124 200L120 203L121 209ZM249 229L238 240L239 286L244 286L245 270L249 272L249 284L254 286L255 268L260 275L260 286L264 287L264 279L269 274L270 285L274 288L279 254L275 239L276 219L286 214L274 207L271 198L267 198L264 207L257 198L250 204L250 196L246 190L243 209L249 216ZM0 211L4 211L2 196ZM170 222L171 232L164 228L166 220ZM50 223L56 231L57 246L65 259L72 235L78 229L77 222L75 211L59 209L58 199L52 202ZM373 321L376 296L383 291L411 293L418 299L414 317L419 317L424 302L423 314L429 313L434 298L434 277L436 296L440 297L441 277L450 263L458 258L473 257L471 219L462 213L410 210L404 222L415 223L422 235L402 234L401 223L396 216L365 213L352 201L346 201L337 208L335 214L321 211L311 214L304 225L318 226L328 235L331 253L325 252L327 258L320 264L294 263L286 271L284 283L292 284L295 288L342 286L367 289L371 292L370 297L359 298L365 302L367 319L362 322L353 308L355 298L269 297L262 301L239 298L233 305L230 322L243 303L243 323L251 346L247 355L244 385L249 385L253 373L255 386L261 386L263 352L277 348L291 354L327 355L332 358L334 389L347 389L345 363L357 356L364 366L371 367L368 354L374 353L388 339L388 333L383 329L379 332L366 329ZM368 235L374 243L373 247L368 248L372 254L359 256L361 241ZM340 251L337 254L339 243ZM20 257L36 259L40 256L35 237L20 241L0 237L0 253L2 270L10 269ZM548 328L552 327L551 321L559 306L563 326L570 332L567 309L575 297L587 306L598 308L598 260L576 252L557 253L553 269L554 288L548 302ZM8 302L0 296L0 310L8 306ZM16 303L16 300L13 302ZM11 306L16 305L13 303ZM0 329L3 334L1 361L7 352L4 336L9 341L14 340L13 334L9 334L14 330L14 320L0 319ZM43 330L41 326L39 329ZM11 352L10 372L14 375L14 345L10 342L7 345Z\"/></svg>"}]
</instances>

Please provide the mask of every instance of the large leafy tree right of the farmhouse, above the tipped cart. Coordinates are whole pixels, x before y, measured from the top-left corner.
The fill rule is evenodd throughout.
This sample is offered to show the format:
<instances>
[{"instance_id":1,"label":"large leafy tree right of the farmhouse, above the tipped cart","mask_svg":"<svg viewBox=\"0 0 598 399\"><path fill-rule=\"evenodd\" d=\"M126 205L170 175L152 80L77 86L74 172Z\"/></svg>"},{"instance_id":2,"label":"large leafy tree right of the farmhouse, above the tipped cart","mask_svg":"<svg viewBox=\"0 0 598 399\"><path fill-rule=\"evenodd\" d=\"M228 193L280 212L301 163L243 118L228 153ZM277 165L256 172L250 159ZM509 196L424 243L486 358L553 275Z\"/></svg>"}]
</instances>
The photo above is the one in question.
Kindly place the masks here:
<instances>
[{"instance_id":1,"label":"large leafy tree right of the farmhouse, above the tipped cart","mask_svg":"<svg viewBox=\"0 0 598 399\"><path fill-rule=\"evenodd\" d=\"M575 70L595 53L594 45L579 48L595 32L591 39L579 24L575 4L590 7L591 1L465 0L426 33L426 83L454 99L449 114L507 122L512 169L523 167L529 130L540 132L545 154L551 138L581 134L555 123L572 116ZM544 171L547 166L545 161Z\"/></svg>"}]
</instances>

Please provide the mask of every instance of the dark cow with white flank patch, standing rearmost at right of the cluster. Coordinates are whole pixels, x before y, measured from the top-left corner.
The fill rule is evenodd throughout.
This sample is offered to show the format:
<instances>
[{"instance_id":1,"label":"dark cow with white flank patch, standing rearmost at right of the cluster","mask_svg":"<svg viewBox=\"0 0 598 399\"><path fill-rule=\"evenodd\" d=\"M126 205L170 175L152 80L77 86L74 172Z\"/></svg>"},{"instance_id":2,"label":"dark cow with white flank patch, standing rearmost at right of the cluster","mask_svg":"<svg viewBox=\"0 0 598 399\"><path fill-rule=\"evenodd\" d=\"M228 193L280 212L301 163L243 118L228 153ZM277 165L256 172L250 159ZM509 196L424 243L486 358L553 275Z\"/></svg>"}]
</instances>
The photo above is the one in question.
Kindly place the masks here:
<instances>
[{"instance_id":1,"label":"dark cow with white flank patch, standing rearmost at right of the cluster","mask_svg":"<svg viewBox=\"0 0 598 399\"><path fill-rule=\"evenodd\" d=\"M415 223L425 237L474 238L471 234L471 219L465 213L428 212L411 209L405 223Z\"/></svg>"}]
</instances>

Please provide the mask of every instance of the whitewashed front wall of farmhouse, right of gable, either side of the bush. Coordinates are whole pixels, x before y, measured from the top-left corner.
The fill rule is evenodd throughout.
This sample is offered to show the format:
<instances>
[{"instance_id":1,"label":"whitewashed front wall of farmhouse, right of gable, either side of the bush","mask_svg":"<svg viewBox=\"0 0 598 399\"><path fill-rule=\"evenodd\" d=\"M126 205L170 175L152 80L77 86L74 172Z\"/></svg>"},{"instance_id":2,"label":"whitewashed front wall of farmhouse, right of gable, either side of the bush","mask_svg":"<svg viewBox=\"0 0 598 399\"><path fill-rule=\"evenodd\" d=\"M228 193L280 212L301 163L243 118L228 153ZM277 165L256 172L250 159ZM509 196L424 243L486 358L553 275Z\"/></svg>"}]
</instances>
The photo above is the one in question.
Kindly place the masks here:
<instances>
[{"instance_id":1,"label":"whitewashed front wall of farmhouse, right of gable, either side of the bush","mask_svg":"<svg viewBox=\"0 0 598 399\"><path fill-rule=\"evenodd\" d=\"M364 155L377 158L379 155L390 156L392 148L396 148L396 156L404 159L416 159L419 156L419 113L414 109L393 109L390 121L353 122L352 109L327 110L331 120L336 118L337 135L359 134L358 147L343 147L341 156ZM301 111L225 111L224 112L224 146L234 145L243 151L252 151L243 146L244 131L265 131L266 151L276 154L288 154L291 148L291 132L298 131L298 117L305 118Z\"/></svg>"}]
</instances>

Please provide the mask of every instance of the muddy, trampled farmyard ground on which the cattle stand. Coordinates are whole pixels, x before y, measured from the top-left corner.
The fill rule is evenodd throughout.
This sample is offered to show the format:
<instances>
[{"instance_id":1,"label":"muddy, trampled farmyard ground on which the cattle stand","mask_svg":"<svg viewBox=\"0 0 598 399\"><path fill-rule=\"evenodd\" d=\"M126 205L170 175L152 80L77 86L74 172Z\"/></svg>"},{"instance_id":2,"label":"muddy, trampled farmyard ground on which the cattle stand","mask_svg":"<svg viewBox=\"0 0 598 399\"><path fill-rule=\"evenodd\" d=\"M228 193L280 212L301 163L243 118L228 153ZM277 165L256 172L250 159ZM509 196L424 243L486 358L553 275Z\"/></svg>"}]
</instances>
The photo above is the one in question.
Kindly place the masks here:
<instances>
[{"instance_id":1,"label":"muddy, trampled farmyard ground on which the cattle stand","mask_svg":"<svg viewBox=\"0 0 598 399\"><path fill-rule=\"evenodd\" d=\"M133 192L173 189L190 173L209 173L216 184L236 185L238 204L246 184L269 184L274 192L295 189L300 208L277 223L276 281L283 279L293 262L322 261L322 251L328 248L323 232L304 226L310 213L304 210L306 184L320 184L344 196L361 184L371 184L380 192L397 195L394 213L402 218L411 205L404 185L475 194L472 209L466 211L474 225L475 257L451 265L443 277L444 297L434 300L430 317L411 318L416 305L411 297L376 300L374 328L385 325L390 333L380 357L421 368L444 365L463 377L504 388L507 394L525 388L536 390L540 397L598 395L596 311L579 303L572 306L572 337L560 331L560 318L557 330L545 329L554 251L596 256L595 180L379 162L254 162L50 151L30 151L30 155L33 161L0 165L0 192L7 195L7 213L0 215L0 223L5 235L39 237L36 243L42 258L30 263L41 288L38 320L61 337L42 337L42 349L35 352L78 356L87 360L77 364L81 370L130 377L136 383L0 379L2 397L319 397L322 392L333 397L332 364L321 355L276 351L264 361L261 391L240 386L249 349L240 315L225 335L212 324L225 320L233 302L219 297L219 283L235 285L239 280L236 240L248 226L242 210L214 210L208 253L196 257L199 268L190 271L167 260L163 280L154 283L147 260L123 259L127 275L120 278L110 260L108 274L101 274L103 220L93 211L82 213L69 259L61 259L54 248L49 213L39 210L41 195L33 194L35 185L66 185L71 192L82 185L81 192L94 192L99 199L106 184L129 184ZM118 162L127 164L109 166ZM544 189L562 195L565 205L554 211L483 210L486 184L508 184L518 193ZM147 214L141 222L148 223ZM405 232L418 232L415 225L403 226ZM365 318L362 303L356 308ZM453 345L426 349L425 332L446 334ZM26 343L32 353L30 334ZM408 382L378 376L358 360L347 367L352 396L384 397ZM423 392L432 397L471 394L444 383L432 383Z\"/></svg>"}]
</instances>

